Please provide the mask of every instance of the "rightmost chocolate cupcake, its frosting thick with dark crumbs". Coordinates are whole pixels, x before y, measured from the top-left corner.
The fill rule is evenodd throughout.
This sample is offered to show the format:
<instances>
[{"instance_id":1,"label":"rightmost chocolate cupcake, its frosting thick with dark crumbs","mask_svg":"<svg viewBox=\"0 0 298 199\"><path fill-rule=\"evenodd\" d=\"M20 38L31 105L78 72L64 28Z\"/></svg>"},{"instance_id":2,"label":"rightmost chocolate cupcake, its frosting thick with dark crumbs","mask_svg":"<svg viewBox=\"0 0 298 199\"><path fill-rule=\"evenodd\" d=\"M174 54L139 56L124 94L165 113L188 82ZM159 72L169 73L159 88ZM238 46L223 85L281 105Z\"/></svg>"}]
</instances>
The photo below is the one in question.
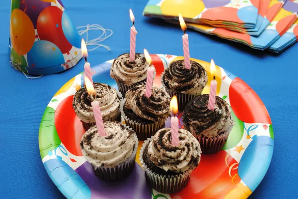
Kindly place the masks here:
<instances>
[{"instance_id":1,"label":"rightmost chocolate cupcake, its frosting thick with dark crumbs","mask_svg":"<svg viewBox=\"0 0 298 199\"><path fill-rule=\"evenodd\" d=\"M184 129L190 131L200 142L203 153L216 153L233 128L234 121L228 103L216 96L214 110L208 109L209 95L191 100L182 115Z\"/></svg>"}]
</instances>

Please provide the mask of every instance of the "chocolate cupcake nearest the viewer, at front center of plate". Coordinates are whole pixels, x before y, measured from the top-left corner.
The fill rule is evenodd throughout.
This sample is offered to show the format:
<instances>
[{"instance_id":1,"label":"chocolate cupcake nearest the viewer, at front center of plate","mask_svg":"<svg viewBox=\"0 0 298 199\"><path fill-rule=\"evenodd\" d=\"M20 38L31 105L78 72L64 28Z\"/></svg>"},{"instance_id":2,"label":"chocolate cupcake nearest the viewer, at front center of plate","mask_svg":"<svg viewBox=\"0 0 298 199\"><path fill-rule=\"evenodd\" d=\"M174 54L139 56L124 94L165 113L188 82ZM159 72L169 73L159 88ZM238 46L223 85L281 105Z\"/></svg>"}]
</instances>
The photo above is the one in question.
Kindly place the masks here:
<instances>
[{"instance_id":1,"label":"chocolate cupcake nearest the viewer, at front center of plate","mask_svg":"<svg viewBox=\"0 0 298 199\"><path fill-rule=\"evenodd\" d=\"M179 144L171 143L171 129L161 129L141 148L140 160L149 186L164 194L173 194L187 186L192 171L201 160L198 140L179 130Z\"/></svg>"}]
</instances>

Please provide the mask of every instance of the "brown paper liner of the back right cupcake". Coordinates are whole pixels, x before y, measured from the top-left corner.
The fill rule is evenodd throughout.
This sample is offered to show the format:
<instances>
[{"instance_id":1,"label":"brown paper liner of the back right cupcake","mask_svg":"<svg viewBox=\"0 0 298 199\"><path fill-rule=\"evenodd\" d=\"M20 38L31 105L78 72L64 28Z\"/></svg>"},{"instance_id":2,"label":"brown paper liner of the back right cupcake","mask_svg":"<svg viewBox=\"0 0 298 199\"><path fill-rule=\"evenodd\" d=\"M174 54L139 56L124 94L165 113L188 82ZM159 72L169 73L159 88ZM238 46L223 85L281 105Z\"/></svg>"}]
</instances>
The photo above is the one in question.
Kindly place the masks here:
<instances>
[{"instance_id":1,"label":"brown paper liner of the back right cupcake","mask_svg":"<svg viewBox=\"0 0 298 199\"><path fill-rule=\"evenodd\" d=\"M184 94L184 93L177 93L174 91L171 91L170 89L168 89L163 82L162 76L163 76L164 72L161 73L161 85L164 88L164 90L171 96L173 97L174 95L176 95L177 97L177 101L178 101L178 110L179 111L184 111L187 103L189 101L191 101L193 98L195 98L196 96L200 95L201 93L198 94Z\"/></svg>"}]
</instances>

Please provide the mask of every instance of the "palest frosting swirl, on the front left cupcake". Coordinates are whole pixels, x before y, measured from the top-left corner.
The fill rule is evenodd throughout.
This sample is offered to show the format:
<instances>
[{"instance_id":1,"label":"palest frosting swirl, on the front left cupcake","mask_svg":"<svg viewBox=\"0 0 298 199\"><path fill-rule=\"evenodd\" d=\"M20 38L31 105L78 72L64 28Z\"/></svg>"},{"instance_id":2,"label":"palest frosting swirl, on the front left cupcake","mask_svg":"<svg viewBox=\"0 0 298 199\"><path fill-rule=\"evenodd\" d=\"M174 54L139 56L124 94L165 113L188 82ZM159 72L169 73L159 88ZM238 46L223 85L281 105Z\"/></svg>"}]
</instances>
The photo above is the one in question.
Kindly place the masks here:
<instances>
[{"instance_id":1,"label":"palest frosting swirl, on the front left cupcake","mask_svg":"<svg viewBox=\"0 0 298 199\"><path fill-rule=\"evenodd\" d=\"M96 125L81 138L82 154L94 167L115 167L133 153L137 139L135 132L119 122L105 122L106 136L99 136Z\"/></svg>"}]
</instances>

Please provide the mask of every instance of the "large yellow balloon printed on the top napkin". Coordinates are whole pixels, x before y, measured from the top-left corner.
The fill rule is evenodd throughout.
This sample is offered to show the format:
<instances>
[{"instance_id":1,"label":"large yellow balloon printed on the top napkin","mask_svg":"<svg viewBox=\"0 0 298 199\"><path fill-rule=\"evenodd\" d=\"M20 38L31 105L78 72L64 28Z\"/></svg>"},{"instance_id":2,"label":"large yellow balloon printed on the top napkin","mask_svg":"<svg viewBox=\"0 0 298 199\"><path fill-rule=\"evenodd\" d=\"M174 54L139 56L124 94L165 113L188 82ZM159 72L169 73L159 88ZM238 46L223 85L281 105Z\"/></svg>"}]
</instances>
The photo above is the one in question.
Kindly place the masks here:
<instances>
[{"instance_id":1,"label":"large yellow balloon printed on the top napkin","mask_svg":"<svg viewBox=\"0 0 298 199\"><path fill-rule=\"evenodd\" d=\"M205 8L202 0L164 0L160 9L162 14L178 16L179 12L185 18L194 18Z\"/></svg>"}]
</instances>

